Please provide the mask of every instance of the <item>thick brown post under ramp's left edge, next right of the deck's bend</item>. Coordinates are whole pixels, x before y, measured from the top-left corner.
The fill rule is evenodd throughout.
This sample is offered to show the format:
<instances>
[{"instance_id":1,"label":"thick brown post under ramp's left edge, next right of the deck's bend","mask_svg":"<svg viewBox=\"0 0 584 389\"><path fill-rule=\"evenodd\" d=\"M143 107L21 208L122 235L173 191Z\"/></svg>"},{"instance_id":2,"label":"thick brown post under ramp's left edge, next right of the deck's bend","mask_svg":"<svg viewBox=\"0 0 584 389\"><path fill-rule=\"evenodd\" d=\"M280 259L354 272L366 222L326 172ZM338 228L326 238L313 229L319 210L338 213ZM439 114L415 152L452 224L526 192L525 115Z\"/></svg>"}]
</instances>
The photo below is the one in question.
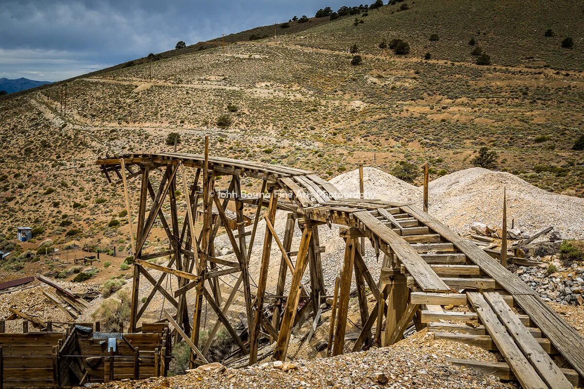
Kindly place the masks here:
<instances>
[{"instance_id":1,"label":"thick brown post under ramp's left edge, next right of the deck's bend","mask_svg":"<svg viewBox=\"0 0 584 389\"><path fill-rule=\"evenodd\" d=\"M340 279L339 288L339 309L335 329L335 345L332 355L340 355L345 347L345 330L347 327L347 313L349 311L349 295L351 293L351 279L353 278L353 267L355 250L357 250L357 238L347 238L345 243L345 263Z\"/></svg>"}]
</instances>

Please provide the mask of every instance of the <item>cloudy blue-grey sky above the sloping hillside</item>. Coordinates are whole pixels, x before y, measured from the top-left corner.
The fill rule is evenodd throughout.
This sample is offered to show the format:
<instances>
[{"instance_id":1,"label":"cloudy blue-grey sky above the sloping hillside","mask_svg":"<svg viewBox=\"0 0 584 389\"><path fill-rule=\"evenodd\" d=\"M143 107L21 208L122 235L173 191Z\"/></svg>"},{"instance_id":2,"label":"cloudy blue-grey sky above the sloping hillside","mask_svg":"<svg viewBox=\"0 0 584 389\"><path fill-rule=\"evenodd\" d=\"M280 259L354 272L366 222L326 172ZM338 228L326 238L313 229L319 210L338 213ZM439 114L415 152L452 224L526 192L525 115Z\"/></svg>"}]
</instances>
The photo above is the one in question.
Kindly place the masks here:
<instances>
[{"instance_id":1,"label":"cloudy blue-grey sky above the sloping hillside","mask_svg":"<svg viewBox=\"0 0 584 389\"><path fill-rule=\"evenodd\" d=\"M350 0L2 0L0 78L56 81Z\"/></svg>"}]
</instances>

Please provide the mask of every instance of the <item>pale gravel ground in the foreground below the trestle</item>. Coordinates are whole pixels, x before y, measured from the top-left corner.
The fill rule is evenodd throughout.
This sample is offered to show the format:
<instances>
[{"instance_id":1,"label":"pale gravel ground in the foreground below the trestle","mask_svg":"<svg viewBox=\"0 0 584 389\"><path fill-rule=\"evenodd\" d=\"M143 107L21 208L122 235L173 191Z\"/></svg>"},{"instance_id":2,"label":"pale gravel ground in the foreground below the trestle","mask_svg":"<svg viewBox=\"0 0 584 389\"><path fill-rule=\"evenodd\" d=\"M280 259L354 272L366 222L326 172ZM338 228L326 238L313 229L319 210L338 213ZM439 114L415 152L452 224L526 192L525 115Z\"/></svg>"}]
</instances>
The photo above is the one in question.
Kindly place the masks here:
<instances>
[{"instance_id":1,"label":"pale gravel ground in the foreground below the trestle","mask_svg":"<svg viewBox=\"0 0 584 389\"><path fill-rule=\"evenodd\" d=\"M482 349L434 340L419 332L392 347L349 353L333 358L266 362L244 369L193 370L184 376L103 384L100 388L516 388L464 367L453 358L494 360ZM386 381L387 379L387 381Z\"/></svg>"}]
</instances>

